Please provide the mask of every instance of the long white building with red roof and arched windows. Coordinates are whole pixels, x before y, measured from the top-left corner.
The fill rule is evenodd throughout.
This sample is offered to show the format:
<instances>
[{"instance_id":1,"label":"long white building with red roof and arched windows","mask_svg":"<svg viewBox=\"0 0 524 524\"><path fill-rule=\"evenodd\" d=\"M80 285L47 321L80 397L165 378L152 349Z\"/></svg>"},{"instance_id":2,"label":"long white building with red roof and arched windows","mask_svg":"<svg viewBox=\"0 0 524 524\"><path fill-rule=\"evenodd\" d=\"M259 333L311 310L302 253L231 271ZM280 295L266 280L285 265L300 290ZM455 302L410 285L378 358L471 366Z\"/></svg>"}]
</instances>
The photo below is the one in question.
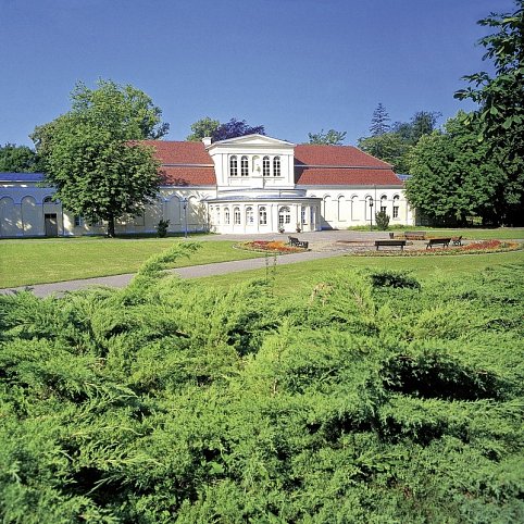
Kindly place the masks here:
<instances>
[{"instance_id":1,"label":"long white building with red roof and arched windows","mask_svg":"<svg viewBox=\"0 0 524 524\"><path fill-rule=\"evenodd\" d=\"M403 184L386 162L350 146L294 145L262 135L211 142L150 140L162 164L158 201L144 215L126 217L117 234L154 233L161 219L170 232L291 233L390 224L412 214ZM101 234L52 202L41 175L0 173L0 236Z\"/></svg>"}]
</instances>

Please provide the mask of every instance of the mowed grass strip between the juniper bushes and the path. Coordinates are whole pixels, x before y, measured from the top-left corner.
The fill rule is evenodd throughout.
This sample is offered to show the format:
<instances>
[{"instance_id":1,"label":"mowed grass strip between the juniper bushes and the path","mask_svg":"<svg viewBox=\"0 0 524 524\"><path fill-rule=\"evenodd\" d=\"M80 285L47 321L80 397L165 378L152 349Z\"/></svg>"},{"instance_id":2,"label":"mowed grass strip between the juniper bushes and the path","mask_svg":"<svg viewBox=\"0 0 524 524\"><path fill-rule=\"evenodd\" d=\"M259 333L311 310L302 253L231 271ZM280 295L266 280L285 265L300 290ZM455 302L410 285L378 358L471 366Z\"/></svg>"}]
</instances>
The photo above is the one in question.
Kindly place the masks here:
<instances>
[{"instance_id":1,"label":"mowed grass strip between the juniper bushes and the path","mask_svg":"<svg viewBox=\"0 0 524 524\"><path fill-rule=\"evenodd\" d=\"M277 296L302 295L309 297L312 289L330 274L350 269L373 271L407 271L416 278L466 275L497 265L524 266L524 251L510 251L488 254L427 255L427 257L354 257L340 255L329 259L301 262L289 265L273 265L264 270L205 277L210 286L227 288L250 279L267 279ZM450 284L452 285L452 284Z\"/></svg>"}]
</instances>

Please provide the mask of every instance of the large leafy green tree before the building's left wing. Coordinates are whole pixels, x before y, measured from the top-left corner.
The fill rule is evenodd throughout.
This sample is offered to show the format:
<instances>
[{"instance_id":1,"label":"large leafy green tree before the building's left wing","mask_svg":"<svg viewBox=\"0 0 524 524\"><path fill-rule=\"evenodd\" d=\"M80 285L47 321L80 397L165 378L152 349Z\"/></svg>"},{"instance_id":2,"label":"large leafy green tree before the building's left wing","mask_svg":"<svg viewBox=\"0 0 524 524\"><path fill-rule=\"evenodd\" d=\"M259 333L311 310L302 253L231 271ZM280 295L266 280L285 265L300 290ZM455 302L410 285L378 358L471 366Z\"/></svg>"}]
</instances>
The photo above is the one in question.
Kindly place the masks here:
<instances>
[{"instance_id":1,"label":"large leafy green tree before the building's left wing","mask_svg":"<svg viewBox=\"0 0 524 524\"><path fill-rule=\"evenodd\" d=\"M159 162L138 140L167 132L161 114L129 85L101 79L91 90L77 84L71 111L32 136L54 197L75 214L105 220L108 236L114 236L115 221L141 213L158 192Z\"/></svg>"}]
</instances>

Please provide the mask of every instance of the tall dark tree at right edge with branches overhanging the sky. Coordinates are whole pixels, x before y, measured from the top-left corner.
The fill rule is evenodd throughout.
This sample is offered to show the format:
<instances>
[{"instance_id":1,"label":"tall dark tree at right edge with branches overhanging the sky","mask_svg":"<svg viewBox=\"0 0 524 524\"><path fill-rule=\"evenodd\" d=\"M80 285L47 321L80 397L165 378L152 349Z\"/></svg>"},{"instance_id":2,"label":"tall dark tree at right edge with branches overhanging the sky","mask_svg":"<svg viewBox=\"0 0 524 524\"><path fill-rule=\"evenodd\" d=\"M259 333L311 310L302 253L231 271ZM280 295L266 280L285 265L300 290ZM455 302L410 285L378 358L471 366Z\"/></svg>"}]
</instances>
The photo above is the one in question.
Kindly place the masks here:
<instances>
[{"instance_id":1,"label":"tall dark tree at right edge with branches overhanging the sky","mask_svg":"<svg viewBox=\"0 0 524 524\"><path fill-rule=\"evenodd\" d=\"M524 205L524 1L515 1L515 12L491 13L479 25L497 32L481 38L484 60L495 64L495 76L485 72L465 76L471 86L454 93L471 99L479 109L464 121L478 129L488 154L496 154L507 175L506 222L522 224Z\"/></svg>"}]
</instances>

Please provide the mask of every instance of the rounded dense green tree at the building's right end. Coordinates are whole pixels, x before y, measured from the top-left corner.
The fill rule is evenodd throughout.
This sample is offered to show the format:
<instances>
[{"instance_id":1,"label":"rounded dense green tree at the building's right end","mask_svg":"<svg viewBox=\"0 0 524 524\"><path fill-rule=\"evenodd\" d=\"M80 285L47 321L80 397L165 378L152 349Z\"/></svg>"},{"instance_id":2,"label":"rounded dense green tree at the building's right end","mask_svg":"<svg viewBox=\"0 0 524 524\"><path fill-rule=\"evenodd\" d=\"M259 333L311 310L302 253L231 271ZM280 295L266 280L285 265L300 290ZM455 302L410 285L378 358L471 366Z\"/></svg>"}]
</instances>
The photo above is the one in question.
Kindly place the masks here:
<instances>
[{"instance_id":1,"label":"rounded dense green tree at the building's right end","mask_svg":"<svg viewBox=\"0 0 524 524\"><path fill-rule=\"evenodd\" d=\"M506 177L496 158L486 160L486 145L465 127L464 113L445 124L445 132L424 135L409 153L410 204L439 225L464 225L469 216L497 223L503 214Z\"/></svg>"}]
</instances>

